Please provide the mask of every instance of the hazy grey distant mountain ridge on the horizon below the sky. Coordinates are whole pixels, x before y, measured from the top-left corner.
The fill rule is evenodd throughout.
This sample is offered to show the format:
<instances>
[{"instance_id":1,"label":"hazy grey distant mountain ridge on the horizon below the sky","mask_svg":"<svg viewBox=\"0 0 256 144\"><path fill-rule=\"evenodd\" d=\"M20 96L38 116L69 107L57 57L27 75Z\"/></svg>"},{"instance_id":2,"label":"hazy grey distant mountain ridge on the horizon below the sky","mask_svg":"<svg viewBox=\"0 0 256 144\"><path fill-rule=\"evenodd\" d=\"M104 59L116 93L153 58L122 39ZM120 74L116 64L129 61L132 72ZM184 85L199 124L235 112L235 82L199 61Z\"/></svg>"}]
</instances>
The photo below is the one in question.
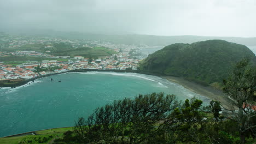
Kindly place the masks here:
<instances>
[{"instance_id":1,"label":"hazy grey distant mountain ridge on the horizon below the sky","mask_svg":"<svg viewBox=\"0 0 256 144\"><path fill-rule=\"evenodd\" d=\"M41 31L10 31L11 34L30 34L49 36L65 39L88 39L88 40L106 40L118 44L146 44L148 46L165 46L175 43L195 43L196 41L205 41L211 39L222 39L232 43L243 44L246 46L256 46L256 38L239 38L239 37L204 37L196 35L177 35L177 36L160 36L160 35L142 35L142 34L97 34L89 32L59 32L51 30Z\"/></svg>"}]
</instances>

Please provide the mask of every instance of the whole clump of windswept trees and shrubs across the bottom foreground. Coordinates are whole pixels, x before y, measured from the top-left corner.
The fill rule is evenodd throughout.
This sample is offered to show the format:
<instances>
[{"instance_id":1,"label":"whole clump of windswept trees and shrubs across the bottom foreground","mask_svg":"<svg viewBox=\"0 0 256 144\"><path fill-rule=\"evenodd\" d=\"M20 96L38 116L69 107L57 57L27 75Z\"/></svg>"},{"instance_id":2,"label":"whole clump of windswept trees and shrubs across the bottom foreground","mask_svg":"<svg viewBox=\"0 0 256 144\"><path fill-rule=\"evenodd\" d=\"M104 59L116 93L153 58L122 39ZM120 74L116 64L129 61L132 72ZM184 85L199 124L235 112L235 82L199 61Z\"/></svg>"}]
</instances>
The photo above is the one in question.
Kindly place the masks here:
<instances>
[{"instance_id":1,"label":"whole clump of windswept trees and shrubs across the bottom foreground","mask_svg":"<svg viewBox=\"0 0 256 144\"><path fill-rule=\"evenodd\" d=\"M55 143L235 143L237 123L222 121L220 103L152 93L116 100L79 118Z\"/></svg>"}]
</instances>

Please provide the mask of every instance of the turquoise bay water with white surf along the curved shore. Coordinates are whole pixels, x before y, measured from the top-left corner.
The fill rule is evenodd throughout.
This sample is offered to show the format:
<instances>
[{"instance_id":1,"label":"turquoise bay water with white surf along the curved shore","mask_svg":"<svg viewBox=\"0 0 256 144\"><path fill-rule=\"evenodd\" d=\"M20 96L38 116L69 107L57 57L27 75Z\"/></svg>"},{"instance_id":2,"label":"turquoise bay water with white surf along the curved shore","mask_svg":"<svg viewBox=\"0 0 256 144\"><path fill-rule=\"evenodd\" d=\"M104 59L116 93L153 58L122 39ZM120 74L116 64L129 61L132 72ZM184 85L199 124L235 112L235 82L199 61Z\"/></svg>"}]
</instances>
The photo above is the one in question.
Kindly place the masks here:
<instances>
[{"instance_id":1,"label":"turquoise bay water with white surf along the curved shore","mask_svg":"<svg viewBox=\"0 0 256 144\"><path fill-rule=\"evenodd\" d=\"M178 100L195 96L208 103L207 98L156 76L112 72L53 75L31 85L0 89L0 137L73 126L78 117L88 117L98 106L152 92L175 94Z\"/></svg>"}]
</instances>

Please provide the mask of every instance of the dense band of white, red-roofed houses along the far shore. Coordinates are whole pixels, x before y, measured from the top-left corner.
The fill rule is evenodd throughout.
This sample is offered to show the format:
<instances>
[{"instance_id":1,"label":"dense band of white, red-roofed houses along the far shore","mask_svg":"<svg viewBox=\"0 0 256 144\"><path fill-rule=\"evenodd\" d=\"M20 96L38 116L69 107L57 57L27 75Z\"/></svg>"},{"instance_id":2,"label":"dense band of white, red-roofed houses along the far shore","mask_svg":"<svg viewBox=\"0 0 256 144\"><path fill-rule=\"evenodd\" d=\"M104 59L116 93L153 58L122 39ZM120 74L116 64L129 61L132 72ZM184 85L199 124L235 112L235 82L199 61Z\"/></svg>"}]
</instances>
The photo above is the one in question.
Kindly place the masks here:
<instances>
[{"instance_id":1,"label":"dense band of white, red-roofed houses along the far shore","mask_svg":"<svg viewBox=\"0 0 256 144\"><path fill-rule=\"evenodd\" d=\"M119 49L114 49L119 51ZM98 57L98 59L84 58L83 56L60 57L51 56L36 51L1 52L1 56L35 56L45 58L66 58L68 61L31 61L16 65L0 63L0 80L32 79L40 75L63 73L75 69L92 70L137 70L139 59L129 58L128 51L123 51L112 56Z\"/></svg>"}]
</instances>

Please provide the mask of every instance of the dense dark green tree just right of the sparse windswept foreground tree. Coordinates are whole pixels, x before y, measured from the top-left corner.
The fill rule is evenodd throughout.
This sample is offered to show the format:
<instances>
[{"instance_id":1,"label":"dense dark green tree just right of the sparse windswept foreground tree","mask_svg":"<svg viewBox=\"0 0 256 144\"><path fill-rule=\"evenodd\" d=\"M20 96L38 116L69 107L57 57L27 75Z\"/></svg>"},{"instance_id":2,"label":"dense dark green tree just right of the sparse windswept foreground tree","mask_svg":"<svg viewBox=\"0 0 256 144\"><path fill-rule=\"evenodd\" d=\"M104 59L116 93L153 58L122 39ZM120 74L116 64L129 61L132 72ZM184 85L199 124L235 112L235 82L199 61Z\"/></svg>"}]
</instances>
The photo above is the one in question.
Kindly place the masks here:
<instances>
[{"instance_id":1,"label":"dense dark green tree just right of the sparse windswept foreground tree","mask_svg":"<svg viewBox=\"0 0 256 144\"><path fill-rule=\"evenodd\" d=\"M207 143L203 134L207 122L203 108L201 100L192 98L172 112L170 118L173 117L174 121L170 127L176 128L172 131L174 135L169 139L170 143Z\"/></svg>"}]
</instances>

